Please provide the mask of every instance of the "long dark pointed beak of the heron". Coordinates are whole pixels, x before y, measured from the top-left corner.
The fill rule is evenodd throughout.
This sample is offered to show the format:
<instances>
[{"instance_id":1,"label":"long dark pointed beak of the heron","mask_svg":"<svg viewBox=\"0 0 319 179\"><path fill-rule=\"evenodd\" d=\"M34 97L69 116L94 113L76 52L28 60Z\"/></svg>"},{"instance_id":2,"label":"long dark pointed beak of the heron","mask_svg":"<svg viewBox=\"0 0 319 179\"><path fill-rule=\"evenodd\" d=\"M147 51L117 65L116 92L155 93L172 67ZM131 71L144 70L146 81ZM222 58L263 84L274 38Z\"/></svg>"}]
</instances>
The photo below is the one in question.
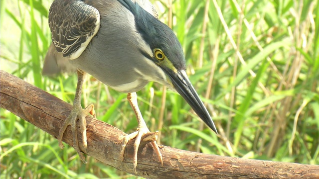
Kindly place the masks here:
<instances>
[{"instance_id":1,"label":"long dark pointed beak of the heron","mask_svg":"<svg viewBox=\"0 0 319 179\"><path fill-rule=\"evenodd\" d=\"M211 119L203 102L200 100L196 90L191 85L186 72L184 70L177 71L177 73L171 70L166 72L171 80L173 88L187 101L187 103L207 124L207 126L217 133L213 120Z\"/></svg>"}]
</instances>

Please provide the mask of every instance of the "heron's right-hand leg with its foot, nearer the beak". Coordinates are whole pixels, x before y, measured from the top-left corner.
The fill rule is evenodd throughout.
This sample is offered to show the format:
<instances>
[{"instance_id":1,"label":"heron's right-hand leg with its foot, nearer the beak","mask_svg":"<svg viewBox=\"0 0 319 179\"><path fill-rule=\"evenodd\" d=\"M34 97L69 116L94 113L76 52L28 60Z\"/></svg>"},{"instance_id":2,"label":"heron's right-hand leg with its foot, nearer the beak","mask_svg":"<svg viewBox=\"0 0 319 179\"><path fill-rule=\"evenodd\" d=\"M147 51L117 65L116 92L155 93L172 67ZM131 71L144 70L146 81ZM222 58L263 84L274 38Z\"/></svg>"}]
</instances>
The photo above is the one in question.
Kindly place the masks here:
<instances>
[{"instance_id":1,"label":"heron's right-hand leg with its foot, nearer the beak","mask_svg":"<svg viewBox=\"0 0 319 179\"><path fill-rule=\"evenodd\" d=\"M134 143L134 155L133 155L133 157L134 157L133 158L133 169L134 169L134 172L136 173L136 166L138 165L138 149L139 149L139 145L141 143L141 138L143 135L150 133L150 130L146 126L146 123L145 123L145 121L142 117L141 111L139 109L136 92L128 93L127 98L128 98L128 100L129 100L129 102L130 102L130 104L135 112L135 115L136 115L136 118L138 120L139 125L138 125L138 129L136 132L129 134L123 138L123 142L122 142L122 146L121 146L121 150L120 150L120 156L121 156L121 160L123 162L126 144L130 140L136 138L135 143ZM162 159L161 154L160 154L159 146L156 143L156 141L153 141L151 143L155 149L155 152L157 153L157 155L159 157L161 166L163 167L163 159Z\"/></svg>"}]
</instances>

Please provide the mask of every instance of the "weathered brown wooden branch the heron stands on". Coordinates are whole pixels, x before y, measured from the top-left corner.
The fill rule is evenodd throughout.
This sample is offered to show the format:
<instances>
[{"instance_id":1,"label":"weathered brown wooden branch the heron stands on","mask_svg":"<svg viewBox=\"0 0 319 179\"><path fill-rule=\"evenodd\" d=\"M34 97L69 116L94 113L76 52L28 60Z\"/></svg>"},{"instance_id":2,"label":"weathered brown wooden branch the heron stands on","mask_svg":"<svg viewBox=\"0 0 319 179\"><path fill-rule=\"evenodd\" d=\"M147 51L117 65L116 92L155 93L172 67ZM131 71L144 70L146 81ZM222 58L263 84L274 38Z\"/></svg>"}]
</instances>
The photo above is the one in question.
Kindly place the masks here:
<instances>
[{"instance_id":1,"label":"weathered brown wooden branch the heron stands on","mask_svg":"<svg viewBox=\"0 0 319 179\"><path fill-rule=\"evenodd\" d=\"M55 138L58 136L63 120L71 111L70 104L4 71L0 71L0 107L11 111ZM87 120L88 148L85 153L118 170L134 174L132 142L128 144L125 151L124 162L120 161L121 142L126 134L105 122L91 117L87 117ZM80 132L78 136L81 137ZM63 141L72 145L69 128ZM83 146L80 146L80 149L83 151ZM139 151L137 175L145 178L319 179L319 166L314 165L223 157L160 146L164 163L164 167L160 167L158 157L151 145L144 145Z\"/></svg>"}]
</instances>

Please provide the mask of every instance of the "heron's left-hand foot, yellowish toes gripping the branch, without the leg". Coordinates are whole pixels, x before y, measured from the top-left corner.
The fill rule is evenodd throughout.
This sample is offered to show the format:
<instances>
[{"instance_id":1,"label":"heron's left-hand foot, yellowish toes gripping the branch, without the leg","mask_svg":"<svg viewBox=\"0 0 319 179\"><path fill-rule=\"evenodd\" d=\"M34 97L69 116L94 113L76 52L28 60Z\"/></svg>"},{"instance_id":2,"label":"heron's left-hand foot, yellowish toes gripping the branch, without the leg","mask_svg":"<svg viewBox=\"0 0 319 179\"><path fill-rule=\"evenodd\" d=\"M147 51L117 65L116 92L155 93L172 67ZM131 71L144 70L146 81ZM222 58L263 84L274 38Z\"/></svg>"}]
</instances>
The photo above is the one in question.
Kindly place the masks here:
<instances>
[{"instance_id":1,"label":"heron's left-hand foot, yellowish toes gripping the branch, without the leg","mask_svg":"<svg viewBox=\"0 0 319 179\"><path fill-rule=\"evenodd\" d=\"M85 120L85 117L89 113L91 115L93 115L93 117L95 118L95 110L94 110L94 105L93 104L88 105L85 109L83 109L81 107L81 104L74 104L72 106L72 110L71 110L70 115L64 120L64 123L63 123L63 125L60 128L59 136L58 136L59 147L61 149L63 149L64 148L64 145L62 144L63 134L64 134L66 128L69 125L71 126L71 131L72 131L72 135L73 135L73 148L79 154L80 159L85 164L86 164L85 157L83 156L83 154L81 153L80 148L79 148L76 122L79 119L80 129L81 129L81 134L82 134L82 143L83 143L84 148L86 148L87 147L87 138L86 138L86 120Z\"/></svg>"}]
</instances>

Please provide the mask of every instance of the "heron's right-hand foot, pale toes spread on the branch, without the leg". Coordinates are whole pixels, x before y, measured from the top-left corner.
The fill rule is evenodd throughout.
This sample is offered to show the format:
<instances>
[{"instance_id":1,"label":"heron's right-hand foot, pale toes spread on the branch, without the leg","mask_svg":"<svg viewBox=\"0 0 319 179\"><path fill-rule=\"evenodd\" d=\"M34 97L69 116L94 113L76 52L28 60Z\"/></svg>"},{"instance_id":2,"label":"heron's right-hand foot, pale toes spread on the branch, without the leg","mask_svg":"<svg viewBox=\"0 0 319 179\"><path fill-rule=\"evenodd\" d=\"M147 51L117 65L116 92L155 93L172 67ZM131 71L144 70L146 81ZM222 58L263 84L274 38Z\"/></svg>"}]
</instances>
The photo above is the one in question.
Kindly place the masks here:
<instances>
[{"instance_id":1,"label":"heron's right-hand foot, pale toes spread on the branch, without the leg","mask_svg":"<svg viewBox=\"0 0 319 179\"><path fill-rule=\"evenodd\" d=\"M123 142L122 142L122 146L121 146L121 150L120 150L120 157L121 157L121 161L124 161L124 151L125 151L125 147L127 145L127 143L135 138L135 142L134 142L134 155L133 155L133 169L134 172L136 173L136 166L138 165L138 149L141 143L141 139L143 136L145 136L146 134L151 133L150 130L147 127L142 127L142 128L138 128L136 132L129 134L127 136L125 136L123 138ZM163 159L161 157L160 154L160 149L158 144L156 143L156 140L158 138L158 131L155 132L153 135L149 136L150 138L153 138L151 144L156 152L156 154L159 157L159 161L161 163L161 166L163 167ZM150 138L144 138L144 141L149 141Z\"/></svg>"}]
</instances>

